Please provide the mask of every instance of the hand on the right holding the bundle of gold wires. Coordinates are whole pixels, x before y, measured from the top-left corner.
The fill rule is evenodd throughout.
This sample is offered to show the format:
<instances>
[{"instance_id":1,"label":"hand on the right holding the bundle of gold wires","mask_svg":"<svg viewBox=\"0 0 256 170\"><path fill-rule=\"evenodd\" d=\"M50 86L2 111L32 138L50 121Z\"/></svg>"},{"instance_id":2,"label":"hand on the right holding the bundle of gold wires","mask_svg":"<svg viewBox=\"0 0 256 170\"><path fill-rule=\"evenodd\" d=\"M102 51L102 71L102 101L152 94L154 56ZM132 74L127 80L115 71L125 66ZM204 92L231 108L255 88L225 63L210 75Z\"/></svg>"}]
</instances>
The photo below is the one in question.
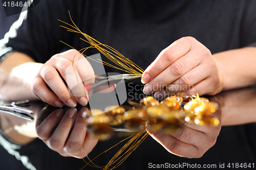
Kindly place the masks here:
<instances>
[{"instance_id":1,"label":"hand on the right holding the bundle of gold wires","mask_svg":"<svg viewBox=\"0 0 256 170\"><path fill-rule=\"evenodd\" d=\"M161 90L176 90L177 84L186 84L189 94L214 95L223 88L220 69L210 51L193 37L183 37L165 48L142 75L145 94L156 92L156 98L164 95ZM192 87L192 88L191 88Z\"/></svg>"}]
</instances>

